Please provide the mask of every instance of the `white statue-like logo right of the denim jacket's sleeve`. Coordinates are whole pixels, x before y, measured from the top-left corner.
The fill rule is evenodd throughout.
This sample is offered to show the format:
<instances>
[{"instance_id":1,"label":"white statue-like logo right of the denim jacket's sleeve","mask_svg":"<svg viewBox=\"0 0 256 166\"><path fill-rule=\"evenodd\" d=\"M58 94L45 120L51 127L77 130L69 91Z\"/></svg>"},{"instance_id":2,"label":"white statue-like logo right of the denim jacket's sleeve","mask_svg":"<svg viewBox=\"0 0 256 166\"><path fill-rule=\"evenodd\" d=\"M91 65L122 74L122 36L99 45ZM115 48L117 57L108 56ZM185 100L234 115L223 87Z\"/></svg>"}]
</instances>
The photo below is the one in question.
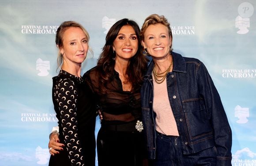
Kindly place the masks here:
<instances>
[{"instance_id":1,"label":"white statue-like logo right of the denim jacket's sleeve","mask_svg":"<svg viewBox=\"0 0 256 166\"><path fill-rule=\"evenodd\" d=\"M238 118L237 123L244 124L248 122L249 108L242 108L240 105L235 107L235 117Z\"/></svg>"}]
</instances>

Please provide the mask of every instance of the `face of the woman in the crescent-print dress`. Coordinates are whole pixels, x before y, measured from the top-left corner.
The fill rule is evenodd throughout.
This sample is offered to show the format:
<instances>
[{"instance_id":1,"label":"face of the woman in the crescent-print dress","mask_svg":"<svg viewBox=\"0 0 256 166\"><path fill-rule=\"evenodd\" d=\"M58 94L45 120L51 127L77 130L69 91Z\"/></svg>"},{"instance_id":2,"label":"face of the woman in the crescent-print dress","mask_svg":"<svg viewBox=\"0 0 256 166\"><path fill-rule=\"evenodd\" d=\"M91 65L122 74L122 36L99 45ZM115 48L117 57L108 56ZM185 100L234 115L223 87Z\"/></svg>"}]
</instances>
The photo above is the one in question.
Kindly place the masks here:
<instances>
[{"instance_id":1,"label":"face of the woman in the crescent-print dress","mask_svg":"<svg viewBox=\"0 0 256 166\"><path fill-rule=\"evenodd\" d=\"M82 29L70 27L63 34L63 47L60 48L63 54L63 63L81 64L87 55L88 42Z\"/></svg>"}]
</instances>

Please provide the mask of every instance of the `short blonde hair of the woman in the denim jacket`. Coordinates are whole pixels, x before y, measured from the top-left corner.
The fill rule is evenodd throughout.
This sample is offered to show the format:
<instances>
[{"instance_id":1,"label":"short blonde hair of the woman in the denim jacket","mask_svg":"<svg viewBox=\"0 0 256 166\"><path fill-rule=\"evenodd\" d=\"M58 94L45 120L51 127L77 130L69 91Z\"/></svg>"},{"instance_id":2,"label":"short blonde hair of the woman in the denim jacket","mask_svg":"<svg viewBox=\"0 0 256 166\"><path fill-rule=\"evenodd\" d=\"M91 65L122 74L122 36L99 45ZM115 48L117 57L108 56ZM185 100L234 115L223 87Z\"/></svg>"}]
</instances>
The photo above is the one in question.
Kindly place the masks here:
<instances>
[{"instance_id":1,"label":"short blonde hair of the woman in the denim jacket","mask_svg":"<svg viewBox=\"0 0 256 166\"><path fill-rule=\"evenodd\" d=\"M172 51L173 50L173 48L172 48L173 33L172 33L172 29L170 27L170 23L168 22L168 20L163 15L151 14L150 16L148 16L145 19L145 21L142 25L141 31L140 31L140 39L142 41L144 41L145 40L144 34L145 34L145 31L147 30L147 27L149 27L149 25L156 25L156 24L162 24L162 25L165 25L168 28L169 36L171 37L170 51Z\"/></svg>"}]
</instances>

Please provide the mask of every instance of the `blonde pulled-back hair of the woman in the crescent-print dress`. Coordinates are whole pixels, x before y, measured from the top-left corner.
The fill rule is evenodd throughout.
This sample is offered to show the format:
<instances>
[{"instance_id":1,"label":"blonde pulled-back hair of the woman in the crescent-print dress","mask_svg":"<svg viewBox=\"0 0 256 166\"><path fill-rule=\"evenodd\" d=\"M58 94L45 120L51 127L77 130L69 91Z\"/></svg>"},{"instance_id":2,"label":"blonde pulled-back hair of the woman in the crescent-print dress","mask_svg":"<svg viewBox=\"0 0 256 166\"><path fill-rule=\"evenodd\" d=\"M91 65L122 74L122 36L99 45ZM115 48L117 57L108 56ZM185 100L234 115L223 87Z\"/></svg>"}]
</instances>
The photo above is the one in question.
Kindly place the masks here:
<instances>
[{"instance_id":1,"label":"blonde pulled-back hair of the woman in the crescent-print dress","mask_svg":"<svg viewBox=\"0 0 256 166\"><path fill-rule=\"evenodd\" d=\"M62 65L63 63L63 55L61 54L60 52L60 48L63 47L63 36L64 36L64 33L65 31L70 28L70 27L78 27L80 29L83 30L83 32L85 33L85 36L87 38L87 42L89 42L90 40L90 36L89 36L89 33L87 32L87 30L81 25L79 24L78 22L74 22L74 21L66 21L66 22L62 22L59 26L59 28L57 29L57 32L56 32L56 37L55 37L55 43L56 43L56 46L58 47L58 58L57 58L57 64L60 68L60 66ZM91 48L89 47L89 51L93 54Z\"/></svg>"}]
</instances>

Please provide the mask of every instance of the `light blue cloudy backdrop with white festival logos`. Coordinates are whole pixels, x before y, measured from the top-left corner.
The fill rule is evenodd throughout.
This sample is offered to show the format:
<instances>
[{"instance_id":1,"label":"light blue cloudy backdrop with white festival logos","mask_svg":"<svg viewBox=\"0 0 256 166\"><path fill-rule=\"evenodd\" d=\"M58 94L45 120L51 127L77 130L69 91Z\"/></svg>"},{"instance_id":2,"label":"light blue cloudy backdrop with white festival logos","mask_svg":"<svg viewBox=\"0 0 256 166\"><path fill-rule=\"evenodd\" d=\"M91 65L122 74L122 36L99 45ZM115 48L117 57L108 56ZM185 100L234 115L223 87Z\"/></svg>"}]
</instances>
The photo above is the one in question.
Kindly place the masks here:
<instances>
[{"instance_id":1,"label":"light blue cloudy backdrop with white festival logos","mask_svg":"<svg viewBox=\"0 0 256 166\"><path fill-rule=\"evenodd\" d=\"M130 18L141 26L153 13L169 19L174 51L207 66L233 130L233 166L255 166L255 8L255 0L1 0L0 166L48 165L58 25L73 20L90 33L94 55L84 73L96 65L114 22Z\"/></svg>"}]
</instances>

